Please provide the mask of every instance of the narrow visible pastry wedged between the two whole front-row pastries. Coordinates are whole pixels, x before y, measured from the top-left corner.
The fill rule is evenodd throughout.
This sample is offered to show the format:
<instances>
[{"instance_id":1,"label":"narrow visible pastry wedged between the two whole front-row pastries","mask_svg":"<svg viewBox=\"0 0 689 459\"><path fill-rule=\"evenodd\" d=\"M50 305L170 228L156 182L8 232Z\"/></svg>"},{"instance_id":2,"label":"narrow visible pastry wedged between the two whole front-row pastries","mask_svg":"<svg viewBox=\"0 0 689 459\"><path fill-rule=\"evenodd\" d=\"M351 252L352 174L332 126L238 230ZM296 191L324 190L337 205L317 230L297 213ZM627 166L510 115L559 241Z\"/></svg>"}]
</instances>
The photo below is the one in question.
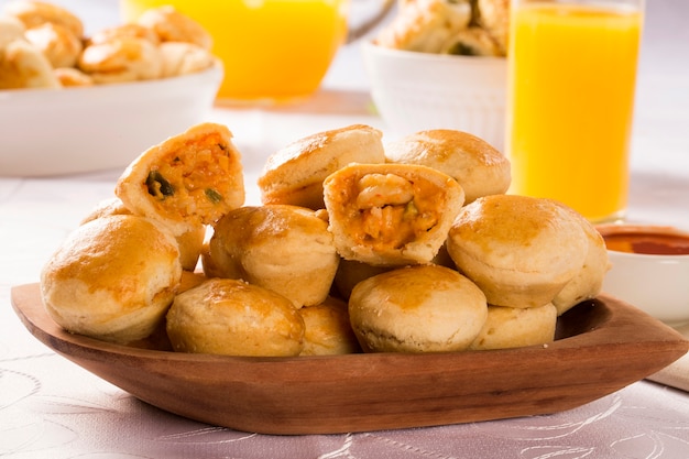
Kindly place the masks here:
<instances>
[{"instance_id":1,"label":"narrow visible pastry wedged between the two whole front-row pastries","mask_svg":"<svg viewBox=\"0 0 689 459\"><path fill-rule=\"evenodd\" d=\"M304 349L300 356L341 356L361 352L349 324L347 303L327 297L325 302L303 307Z\"/></svg>"}]
</instances>

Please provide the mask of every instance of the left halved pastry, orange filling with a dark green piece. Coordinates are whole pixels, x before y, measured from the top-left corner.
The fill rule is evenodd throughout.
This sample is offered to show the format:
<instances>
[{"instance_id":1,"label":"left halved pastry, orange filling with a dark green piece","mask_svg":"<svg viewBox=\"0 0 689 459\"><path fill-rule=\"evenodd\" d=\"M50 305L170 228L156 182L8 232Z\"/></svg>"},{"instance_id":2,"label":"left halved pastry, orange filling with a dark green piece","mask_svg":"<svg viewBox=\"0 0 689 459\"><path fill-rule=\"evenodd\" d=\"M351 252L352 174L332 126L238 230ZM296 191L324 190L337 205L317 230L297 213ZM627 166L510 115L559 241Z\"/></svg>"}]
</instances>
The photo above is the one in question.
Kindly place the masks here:
<instances>
[{"instance_id":1,"label":"left halved pastry, orange filling with a dark green piece","mask_svg":"<svg viewBox=\"0 0 689 459\"><path fill-rule=\"evenodd\" d=\"M228 128L197 124L143 152L114 192L129 209L179 236L243 205L241 154Z\"/></svg>"}]
</instances>

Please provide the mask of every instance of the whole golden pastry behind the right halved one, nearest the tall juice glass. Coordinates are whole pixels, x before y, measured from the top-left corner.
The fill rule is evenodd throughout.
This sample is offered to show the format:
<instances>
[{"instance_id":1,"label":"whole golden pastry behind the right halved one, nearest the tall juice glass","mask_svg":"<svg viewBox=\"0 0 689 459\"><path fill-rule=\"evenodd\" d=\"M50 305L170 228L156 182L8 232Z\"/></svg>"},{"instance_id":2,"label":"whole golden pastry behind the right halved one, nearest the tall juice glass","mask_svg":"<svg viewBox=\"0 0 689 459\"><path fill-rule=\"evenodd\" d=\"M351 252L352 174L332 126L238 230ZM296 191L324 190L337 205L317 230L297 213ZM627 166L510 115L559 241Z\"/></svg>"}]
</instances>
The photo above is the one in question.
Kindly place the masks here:
<instances>
[{"instance_id":1,"label":"whole golden pastry behind the right halved one, nearest the tall juice glass","mask_svg":"<svg viewBox=\"0 0 689 459\"><path fill-rule=\"evenodd\" d=\"M419 164L455 178L464 190L464 204L506 193L512 179L510 160L463 131L419 131L385 145L385 155L391 163Z\"/></svg>"}]
</instances>

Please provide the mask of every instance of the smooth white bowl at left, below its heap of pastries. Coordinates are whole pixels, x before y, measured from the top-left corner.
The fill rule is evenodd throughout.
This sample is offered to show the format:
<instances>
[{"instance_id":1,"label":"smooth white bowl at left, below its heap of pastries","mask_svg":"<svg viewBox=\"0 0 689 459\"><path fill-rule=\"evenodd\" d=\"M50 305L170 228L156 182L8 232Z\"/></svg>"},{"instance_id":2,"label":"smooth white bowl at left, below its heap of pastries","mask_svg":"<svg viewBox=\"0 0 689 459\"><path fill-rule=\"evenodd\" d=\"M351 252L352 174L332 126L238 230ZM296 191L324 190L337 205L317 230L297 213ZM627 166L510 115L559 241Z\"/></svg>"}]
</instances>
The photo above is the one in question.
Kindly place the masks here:
<instances>
[{"instance_id":1,"label":"smooth white bowl at left, below its heap of pastries","mask_svg":"<svg viewBox=\"0 0 689 459\"><path fill-rule=\"evenodd\" d=\"M222 67L173 78L64 89L0 90L0 176L127 166L205 121Z\"/></svg>"}]
</instances>

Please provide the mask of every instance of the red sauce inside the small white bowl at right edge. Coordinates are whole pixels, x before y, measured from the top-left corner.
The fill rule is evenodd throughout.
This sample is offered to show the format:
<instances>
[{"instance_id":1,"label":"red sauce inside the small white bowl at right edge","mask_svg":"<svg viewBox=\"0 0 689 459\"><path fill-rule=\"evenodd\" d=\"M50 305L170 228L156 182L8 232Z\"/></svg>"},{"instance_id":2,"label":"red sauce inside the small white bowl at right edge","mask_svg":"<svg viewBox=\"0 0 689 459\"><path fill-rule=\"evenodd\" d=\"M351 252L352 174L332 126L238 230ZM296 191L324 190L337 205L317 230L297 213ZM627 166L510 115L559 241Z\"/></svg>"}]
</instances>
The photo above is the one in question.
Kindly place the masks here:
<instances>
[{"instance_id":1,"label":"red sauce inside the small white bowl at right edge","mask_svg":"<svg viewBox=\"0 0 689 459\"><path fill-rule=\"evenodd\" d=\"M601 226L609 250L648 255L689 255L689 234L670 227Z\"/></svg>"}]
</instances>

